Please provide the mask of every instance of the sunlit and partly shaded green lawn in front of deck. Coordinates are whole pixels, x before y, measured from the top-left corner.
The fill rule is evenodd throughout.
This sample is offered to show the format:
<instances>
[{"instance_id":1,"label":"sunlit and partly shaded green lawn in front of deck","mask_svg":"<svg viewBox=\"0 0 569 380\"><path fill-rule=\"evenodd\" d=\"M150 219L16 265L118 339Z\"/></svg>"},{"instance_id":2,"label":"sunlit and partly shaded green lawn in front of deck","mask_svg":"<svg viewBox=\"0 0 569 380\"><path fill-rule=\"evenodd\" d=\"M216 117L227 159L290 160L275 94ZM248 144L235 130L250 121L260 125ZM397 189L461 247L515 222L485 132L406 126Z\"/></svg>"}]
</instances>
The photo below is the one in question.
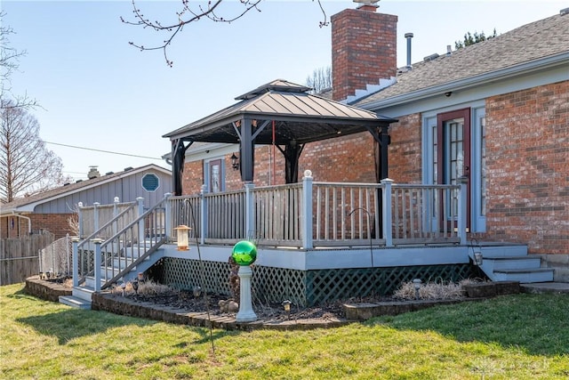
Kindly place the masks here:
<instances>
[{"instance_id":1,"label":"sunlit and partly shaded green lawn in front of deck","mask_svg":"<svg viewBox=\"0 0 569 380\"><path fill-rule=\"evenodd\" d=\"M0 378L563 379L568 295L508 295L309 331L209 331L0 287Z\"/></svg>"}]
</instances>

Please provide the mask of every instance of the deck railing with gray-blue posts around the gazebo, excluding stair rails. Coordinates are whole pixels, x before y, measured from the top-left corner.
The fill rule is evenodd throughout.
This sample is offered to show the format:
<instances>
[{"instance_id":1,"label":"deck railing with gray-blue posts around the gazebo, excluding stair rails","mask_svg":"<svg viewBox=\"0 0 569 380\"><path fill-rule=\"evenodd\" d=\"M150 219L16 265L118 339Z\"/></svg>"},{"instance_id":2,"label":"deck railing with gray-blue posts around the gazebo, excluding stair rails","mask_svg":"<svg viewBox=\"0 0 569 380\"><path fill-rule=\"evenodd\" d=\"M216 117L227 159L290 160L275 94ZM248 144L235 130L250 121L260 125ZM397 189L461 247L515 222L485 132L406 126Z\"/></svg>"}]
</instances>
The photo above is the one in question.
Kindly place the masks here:
<instances>
[{"instance_id":1,"label":"deck railing with gray-blue posts around the gazebo, excluding stair rails","mask_svg":"<svg viewBox=\"0 0 569 380\"><path fill-rule=\"evenodd\" d=\"M353 247L466 243L466 185L313 182L172 197L172 228L205 244ZM191 214L193 212L193 214ZM193 216L192 216L193 215ZM171 230L170 236L175 236Z\"/></svg>"}]
</instances>

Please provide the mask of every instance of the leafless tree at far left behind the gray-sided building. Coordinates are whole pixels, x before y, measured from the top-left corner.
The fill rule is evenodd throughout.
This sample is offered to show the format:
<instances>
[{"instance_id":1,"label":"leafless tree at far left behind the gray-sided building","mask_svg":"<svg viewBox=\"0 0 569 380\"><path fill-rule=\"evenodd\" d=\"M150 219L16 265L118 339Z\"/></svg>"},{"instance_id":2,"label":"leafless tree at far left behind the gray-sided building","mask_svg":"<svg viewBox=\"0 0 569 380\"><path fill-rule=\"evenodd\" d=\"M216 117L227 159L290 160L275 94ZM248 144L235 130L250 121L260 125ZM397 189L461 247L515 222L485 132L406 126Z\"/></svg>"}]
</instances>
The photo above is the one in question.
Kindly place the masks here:
<instances>
[{"instance_id":1,"label":"leafless tree at far left behind the gray-sided building","mask_svg":"<svg viewBox=\"0 0 569 380\"><path fill-rule=\"evenodd\" d=\"M39 138L36 117L6 101L0 109L0 197L11 202L60 185L62 166Z\"/></svg>"}]
</instances>

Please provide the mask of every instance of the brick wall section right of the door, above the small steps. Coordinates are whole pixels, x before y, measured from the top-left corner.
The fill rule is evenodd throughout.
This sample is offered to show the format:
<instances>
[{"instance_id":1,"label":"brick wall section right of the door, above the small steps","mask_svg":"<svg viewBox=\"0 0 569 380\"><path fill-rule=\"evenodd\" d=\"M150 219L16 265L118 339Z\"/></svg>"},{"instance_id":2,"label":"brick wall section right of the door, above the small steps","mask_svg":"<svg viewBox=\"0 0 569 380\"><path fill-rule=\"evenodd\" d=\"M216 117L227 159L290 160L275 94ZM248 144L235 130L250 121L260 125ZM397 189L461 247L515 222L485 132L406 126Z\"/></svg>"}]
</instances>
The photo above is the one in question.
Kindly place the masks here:
<instances>
[{"instance_id":1,"label":"brick wall section right of the door, above the small steps","mask_svg":"<svg viewBox=\"0 0 569 380\"><path fill-rule=\"evenodd\" d=\"M486 103L485 238L569 254L569 81Z\"/></svg>"}]
</instances>

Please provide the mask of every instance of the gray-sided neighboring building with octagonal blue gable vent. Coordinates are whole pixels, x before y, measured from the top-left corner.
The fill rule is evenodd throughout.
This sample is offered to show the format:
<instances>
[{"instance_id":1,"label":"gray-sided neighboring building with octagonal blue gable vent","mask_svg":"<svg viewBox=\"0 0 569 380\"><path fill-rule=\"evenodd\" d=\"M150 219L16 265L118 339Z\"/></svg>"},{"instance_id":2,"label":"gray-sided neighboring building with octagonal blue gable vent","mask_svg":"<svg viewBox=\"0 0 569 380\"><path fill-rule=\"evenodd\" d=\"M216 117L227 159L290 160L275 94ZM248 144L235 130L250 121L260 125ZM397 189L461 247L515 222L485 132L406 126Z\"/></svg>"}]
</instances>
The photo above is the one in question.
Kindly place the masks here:
<instances>
[{"instance_id":1,"label":"gray-sided neighboring building with octagonal blue gable vent","mask_svg":"<svg viewBox=\"0 0 569 380\"><path fill-rule=\"evenodd\" d=\"M112 204L114 199L131 202L144 198L145 207L154 206L172 191L170 170L154 164L128 167L120 173L100 175L96 167L88 180L68 183L30 197L18 198L0 207L0 237L18 238L39 230L49 230L55 239L72 233L69 219L75 217L77 204Z\"/></svg>"}]
</instances>

